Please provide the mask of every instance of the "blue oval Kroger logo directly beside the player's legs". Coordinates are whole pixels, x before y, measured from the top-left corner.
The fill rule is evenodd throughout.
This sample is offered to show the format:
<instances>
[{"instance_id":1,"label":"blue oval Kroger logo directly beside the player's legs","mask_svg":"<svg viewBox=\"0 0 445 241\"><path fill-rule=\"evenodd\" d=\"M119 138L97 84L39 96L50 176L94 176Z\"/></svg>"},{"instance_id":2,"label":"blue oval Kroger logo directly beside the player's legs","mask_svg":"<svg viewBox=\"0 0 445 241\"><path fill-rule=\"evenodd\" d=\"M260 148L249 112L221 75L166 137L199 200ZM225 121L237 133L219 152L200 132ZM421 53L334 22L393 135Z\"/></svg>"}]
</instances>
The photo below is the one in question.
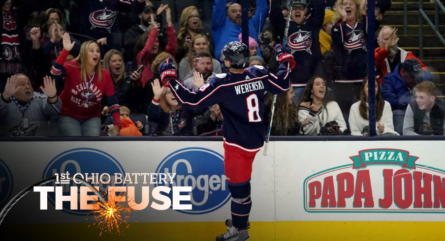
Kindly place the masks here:
<instances>
[{"instance_id":1,"label":"blue oval Kroger logo directly beside the player's legs","mask_svg":"<svg viewBox=\"0 0 445 241\"><path fill-rule=\"evenodd\" d=\"M165 157L157 173L176 173L173 186L191 186L191 210L176 210L188 214L203 214L221 208L230 199L224 175L223 156L205 148L185 148ZM171 193L169 194L171 198Z\"/></svg>"}]
</instances>

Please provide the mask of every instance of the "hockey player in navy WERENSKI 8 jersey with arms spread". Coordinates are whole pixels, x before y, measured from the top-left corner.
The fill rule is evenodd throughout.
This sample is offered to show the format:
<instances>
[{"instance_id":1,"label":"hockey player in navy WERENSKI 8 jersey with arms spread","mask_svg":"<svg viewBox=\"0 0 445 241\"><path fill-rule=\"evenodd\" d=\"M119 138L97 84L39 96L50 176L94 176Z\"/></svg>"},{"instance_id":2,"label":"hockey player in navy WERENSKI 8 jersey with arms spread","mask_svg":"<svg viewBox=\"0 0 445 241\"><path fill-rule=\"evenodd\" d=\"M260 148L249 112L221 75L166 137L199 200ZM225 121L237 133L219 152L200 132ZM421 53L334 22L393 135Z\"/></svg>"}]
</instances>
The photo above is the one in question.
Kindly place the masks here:
<instances>
[{"instance_id":1,"label":"hockey player in navy WERENSKI 8 jersey with arms spread","mask_svg":"<svg viewBox=\"0 0 445 241\"><path fill-rule=\"evenodd\" d=\"M264 144L264 92L281 93L289 89L289 71L295 66L293 56L277 45L280 61L276 75L264 67L245 68L249 48L240 42L229 42L221 51L228 72L217 74L208 84L193 91L177 79L171 59L159 67L161 80L183 105L207 107L219 104L223 113L224 171L232 195L233 227L218 236L217 241L245 241L249 238L247 221L252 207L250 179L256 152Z\"/></svg>"}]
</instances>

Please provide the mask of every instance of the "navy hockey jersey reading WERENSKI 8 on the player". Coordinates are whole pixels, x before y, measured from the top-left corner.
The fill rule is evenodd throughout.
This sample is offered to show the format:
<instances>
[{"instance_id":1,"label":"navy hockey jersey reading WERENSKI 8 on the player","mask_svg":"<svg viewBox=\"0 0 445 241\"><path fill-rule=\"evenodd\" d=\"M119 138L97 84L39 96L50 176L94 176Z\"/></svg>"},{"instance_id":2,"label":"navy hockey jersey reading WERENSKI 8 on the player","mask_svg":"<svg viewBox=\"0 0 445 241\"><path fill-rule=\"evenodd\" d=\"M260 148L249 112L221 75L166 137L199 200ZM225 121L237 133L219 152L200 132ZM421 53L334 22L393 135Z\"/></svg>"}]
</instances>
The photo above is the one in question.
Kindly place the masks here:
<instances>
[{"instance_id":1,"label":"navy hockey jersey reading WERENSKI 8 on the player","mask_svg":"<svg viewBox=\"0 0 445 241\"><path fill-rule=\"evenodd\" d=\"M289 89L287 64L280 64L276 75L257 65L242 74L217 74L195 91L179 80L170 81L169 87L183 105L219 104L224 117L224 142L245 151L256 151L263 146L265 137L264 92L281 93Z\"/></svg>"}]
</instances>

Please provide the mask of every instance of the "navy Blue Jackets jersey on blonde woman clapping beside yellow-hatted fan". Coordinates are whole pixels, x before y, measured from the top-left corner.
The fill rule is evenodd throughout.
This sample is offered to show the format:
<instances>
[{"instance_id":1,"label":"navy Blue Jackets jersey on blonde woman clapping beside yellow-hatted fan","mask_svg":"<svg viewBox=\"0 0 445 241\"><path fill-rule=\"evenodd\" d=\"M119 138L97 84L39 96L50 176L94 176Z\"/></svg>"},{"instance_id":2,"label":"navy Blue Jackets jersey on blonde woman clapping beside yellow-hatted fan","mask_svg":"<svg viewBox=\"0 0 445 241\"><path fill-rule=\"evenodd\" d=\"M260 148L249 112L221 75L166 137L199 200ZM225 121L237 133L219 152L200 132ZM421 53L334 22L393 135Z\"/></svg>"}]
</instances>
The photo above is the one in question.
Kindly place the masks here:
<instances>
[{"instance_id":1,"label":"navy Blue Jackets jersey on blonde woman clapping beside yellow-hatted fan","mask_svg":"<svg viewBox=\"0 0 445 241\"><path fill-rule=\"evenodd\" d=\"M366 25L367 18L363 16L363 20L354 26L338 22L332 27L332 42L336 56L334 82L362 82L367 75Z\"/></svg>"}]
</instances>

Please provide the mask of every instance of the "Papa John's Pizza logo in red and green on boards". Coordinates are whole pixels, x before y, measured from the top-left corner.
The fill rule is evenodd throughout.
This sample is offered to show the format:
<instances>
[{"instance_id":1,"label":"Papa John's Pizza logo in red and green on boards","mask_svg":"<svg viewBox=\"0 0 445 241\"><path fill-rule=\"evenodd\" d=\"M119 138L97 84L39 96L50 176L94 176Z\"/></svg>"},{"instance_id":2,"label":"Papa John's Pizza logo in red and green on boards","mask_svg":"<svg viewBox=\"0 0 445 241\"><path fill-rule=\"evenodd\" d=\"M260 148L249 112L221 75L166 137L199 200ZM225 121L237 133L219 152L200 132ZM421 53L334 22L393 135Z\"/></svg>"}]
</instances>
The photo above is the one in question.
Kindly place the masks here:
<instances>
[{"instance_id":1,"label":"Papa John's Pizza logo in red and green on boards","mask_svg":"<svg viewBox=\"0 0 445 241\"><path fill-rule=\"evenodd\" d=\"M368 149L304 181L308 212L445 213L445 171L398 149Z\"/></svg>"}]
</instances>

